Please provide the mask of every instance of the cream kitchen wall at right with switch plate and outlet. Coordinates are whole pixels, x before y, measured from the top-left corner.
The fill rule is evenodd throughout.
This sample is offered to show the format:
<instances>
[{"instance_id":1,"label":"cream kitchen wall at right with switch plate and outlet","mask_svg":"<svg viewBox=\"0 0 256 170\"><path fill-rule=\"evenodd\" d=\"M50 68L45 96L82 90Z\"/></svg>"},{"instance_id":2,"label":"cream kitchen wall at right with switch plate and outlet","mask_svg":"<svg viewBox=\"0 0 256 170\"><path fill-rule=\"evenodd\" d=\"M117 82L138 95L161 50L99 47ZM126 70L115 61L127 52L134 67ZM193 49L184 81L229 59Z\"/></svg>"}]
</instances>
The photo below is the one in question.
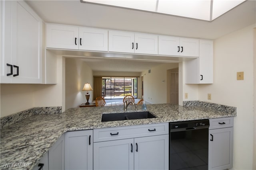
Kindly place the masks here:
<instances>
[{"instance_id":1,"label":"cream kitchen wall at right with switch plate and outlet","mask_svg":"<svg viewBox=\"0 0 256 170\"><path fill-rule=\"evenodd\" d=\"M254 27L214 40L214 84L198 85L198 100L237 107L234 117L234 169L237 170L253 169ZM236 72L242 71L244 80L236 80ZM207 100L208 93L212 94L212 100Z\"/></svg>"}]
</instances>

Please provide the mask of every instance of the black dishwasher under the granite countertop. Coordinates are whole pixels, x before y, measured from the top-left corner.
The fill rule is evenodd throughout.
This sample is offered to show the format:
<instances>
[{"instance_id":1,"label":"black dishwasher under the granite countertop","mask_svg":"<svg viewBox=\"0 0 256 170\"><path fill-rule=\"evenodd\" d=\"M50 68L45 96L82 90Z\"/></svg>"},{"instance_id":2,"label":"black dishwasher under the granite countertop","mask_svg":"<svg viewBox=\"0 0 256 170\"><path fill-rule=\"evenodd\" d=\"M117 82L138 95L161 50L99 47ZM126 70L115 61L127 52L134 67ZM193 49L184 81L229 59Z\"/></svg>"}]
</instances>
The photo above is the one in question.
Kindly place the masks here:
<instances>
[{"instance_id":1,"label":"black dishwasher under the granite countertop","mask_svg":"<svg viewBox=\"0 0 256 170\"><path fill-rule=\"evenodd\" d=\"M209 120L170 123L170 170L208 170Z\"/></svg>"}]
</instances>

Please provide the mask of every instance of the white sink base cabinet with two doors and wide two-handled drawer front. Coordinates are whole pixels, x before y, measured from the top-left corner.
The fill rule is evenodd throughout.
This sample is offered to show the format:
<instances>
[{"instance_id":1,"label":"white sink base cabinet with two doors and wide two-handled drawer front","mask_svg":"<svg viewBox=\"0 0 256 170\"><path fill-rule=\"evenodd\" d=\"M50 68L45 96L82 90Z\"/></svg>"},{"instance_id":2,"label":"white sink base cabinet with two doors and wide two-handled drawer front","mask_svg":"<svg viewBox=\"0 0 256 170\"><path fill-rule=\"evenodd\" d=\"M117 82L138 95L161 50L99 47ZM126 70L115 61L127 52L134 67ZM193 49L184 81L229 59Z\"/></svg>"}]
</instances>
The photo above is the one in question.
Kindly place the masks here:
<instances>
[{"instance_id":1,"label":"white sink base cabinet with two doors and wide two-handled drawer front","mask_svg":"<svg viewBox=\"0 0 256 170\"><path fill-rule=\"evenodd\" d=\"M159 133L166 134L156 135ZM125 139L132 137L132 134L148 136ZM103 136L106 141L102 141ZM94 143L94 170L168 170L169 168L168 123L95 129L94 139L100 140Z\"/></svg>"}]
</instances>

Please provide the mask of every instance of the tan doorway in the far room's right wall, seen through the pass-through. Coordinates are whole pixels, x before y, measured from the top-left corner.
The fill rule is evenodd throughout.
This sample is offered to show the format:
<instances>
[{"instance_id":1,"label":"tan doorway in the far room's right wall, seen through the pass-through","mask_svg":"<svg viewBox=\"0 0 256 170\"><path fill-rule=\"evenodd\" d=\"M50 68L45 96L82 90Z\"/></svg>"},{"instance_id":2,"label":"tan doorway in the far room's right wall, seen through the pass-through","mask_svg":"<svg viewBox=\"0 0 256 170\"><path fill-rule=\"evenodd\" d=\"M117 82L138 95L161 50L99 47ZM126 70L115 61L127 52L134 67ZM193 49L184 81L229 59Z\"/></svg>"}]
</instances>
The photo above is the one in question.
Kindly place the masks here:
<instances>
[{"instance_id":1,"label":"tan doorway in the far room's right wall, seen through the pass-through","mask_svg":"<svg viewBox=\"0 0 256 170\"><path fill-rule=\"evenodd\" d=\"M167 103L179 104L178 68L167 70Z\"/></svg>"}]
</instances>

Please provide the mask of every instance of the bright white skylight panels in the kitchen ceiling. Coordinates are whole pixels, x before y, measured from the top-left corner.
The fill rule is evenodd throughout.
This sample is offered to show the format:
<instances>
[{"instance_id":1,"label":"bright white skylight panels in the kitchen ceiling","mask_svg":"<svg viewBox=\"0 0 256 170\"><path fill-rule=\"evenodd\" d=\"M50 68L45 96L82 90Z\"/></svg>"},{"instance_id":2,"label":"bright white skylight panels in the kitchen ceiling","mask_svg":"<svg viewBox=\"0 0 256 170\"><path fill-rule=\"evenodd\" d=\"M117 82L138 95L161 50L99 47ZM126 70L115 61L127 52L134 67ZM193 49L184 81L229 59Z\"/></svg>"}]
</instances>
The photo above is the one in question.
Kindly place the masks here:
<instances>
[{"instance_id":1,"label":"bright white skylight panels in the kitchen ceiling","mask_svg":"<svg viewBox=\"0 0 256 170\"><path fill-rule=\"evenodd\" d=\"M212 21L245 0L82 0L99 5Z\"/></svg>"}]
</instances>

